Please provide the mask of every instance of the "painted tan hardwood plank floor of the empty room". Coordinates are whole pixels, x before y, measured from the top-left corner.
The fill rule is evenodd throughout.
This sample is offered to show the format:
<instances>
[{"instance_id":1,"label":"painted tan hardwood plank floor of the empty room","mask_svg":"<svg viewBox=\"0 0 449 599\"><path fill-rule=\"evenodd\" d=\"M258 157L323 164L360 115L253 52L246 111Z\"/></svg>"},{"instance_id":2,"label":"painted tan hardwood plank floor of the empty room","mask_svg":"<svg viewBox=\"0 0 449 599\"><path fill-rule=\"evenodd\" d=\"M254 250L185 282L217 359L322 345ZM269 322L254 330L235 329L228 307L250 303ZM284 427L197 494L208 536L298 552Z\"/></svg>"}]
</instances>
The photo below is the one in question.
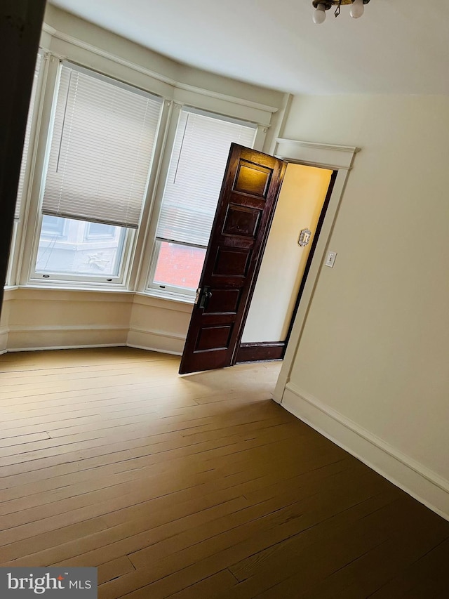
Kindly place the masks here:
<instances>
[{"instance_id":1,"label":"painted tan hardwood plank floor of the empty room","mask_svg":"<svg viewBox=\"0 0 449 599\"><path fill-rule=\"evenodd\" d=\"M279 362L178 366L0 357L0 565L96 566L101 599L448 596L449 522L272 402Z\"/></svg>"}]
</instances>

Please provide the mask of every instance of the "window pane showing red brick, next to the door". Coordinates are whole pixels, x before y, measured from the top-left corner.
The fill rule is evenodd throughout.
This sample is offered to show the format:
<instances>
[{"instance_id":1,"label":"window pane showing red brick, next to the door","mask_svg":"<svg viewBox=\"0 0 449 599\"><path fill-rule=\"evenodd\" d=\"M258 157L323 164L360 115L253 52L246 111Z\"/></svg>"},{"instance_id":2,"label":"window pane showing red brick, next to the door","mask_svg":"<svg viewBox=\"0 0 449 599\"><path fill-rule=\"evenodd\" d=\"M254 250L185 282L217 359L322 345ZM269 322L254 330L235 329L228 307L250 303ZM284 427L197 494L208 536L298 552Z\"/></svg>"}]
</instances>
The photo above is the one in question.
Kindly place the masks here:
<instances>
[{"instance_id":1,"label":"window pane showing red brick, next to the door","mask_svg":"<svg viewBox=\"0 0 449 599\"><path fill-rule=\"evenodd\" d=\"M161 242L154 282L161 287L196 289L205 256L205 248Z\"/></svg>"}]
</instances>

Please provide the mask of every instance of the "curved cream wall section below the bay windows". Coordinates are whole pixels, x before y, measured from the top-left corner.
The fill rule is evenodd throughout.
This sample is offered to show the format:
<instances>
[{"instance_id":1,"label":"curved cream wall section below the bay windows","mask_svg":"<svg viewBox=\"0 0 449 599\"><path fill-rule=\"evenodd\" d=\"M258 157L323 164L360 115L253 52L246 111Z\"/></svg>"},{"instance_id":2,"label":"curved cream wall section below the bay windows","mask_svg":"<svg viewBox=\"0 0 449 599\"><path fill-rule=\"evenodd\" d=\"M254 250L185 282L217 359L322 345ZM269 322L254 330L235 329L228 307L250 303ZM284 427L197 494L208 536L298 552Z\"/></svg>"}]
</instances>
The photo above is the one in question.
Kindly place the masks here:
<instances>
[{"instance_id":1,"label":"curved cream wall section below the bay windows","mask_svg":"<svg viewBox=\"0 0 449 599\"><path fill-rule=\"evenodd\" d=\"M182 353L192 304L119 291L8 289L0 353L129 345Z\"/></svg>"}]
</instances>

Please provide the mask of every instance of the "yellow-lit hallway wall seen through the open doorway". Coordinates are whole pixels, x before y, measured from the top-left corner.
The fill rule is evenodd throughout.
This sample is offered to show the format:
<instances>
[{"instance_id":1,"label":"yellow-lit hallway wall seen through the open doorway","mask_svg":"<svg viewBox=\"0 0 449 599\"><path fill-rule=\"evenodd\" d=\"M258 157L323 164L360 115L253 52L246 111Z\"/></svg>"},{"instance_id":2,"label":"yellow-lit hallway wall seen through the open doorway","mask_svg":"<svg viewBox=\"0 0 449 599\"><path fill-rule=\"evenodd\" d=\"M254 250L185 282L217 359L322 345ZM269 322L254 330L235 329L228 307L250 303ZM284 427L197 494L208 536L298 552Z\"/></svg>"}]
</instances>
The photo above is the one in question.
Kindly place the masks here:
<instances>
[{"instance_id":1,"label":"yellow-lit hallway wall seen through the open doorway","mask_svg":"<svg viewBox=\"0 0 449 599\"><path fill-rule=\"evenodd\" d=\"M284 341L332 171L288 164L242 343ZM298 245L302 229L312 233Z\"/></svg>"}]
</instances>

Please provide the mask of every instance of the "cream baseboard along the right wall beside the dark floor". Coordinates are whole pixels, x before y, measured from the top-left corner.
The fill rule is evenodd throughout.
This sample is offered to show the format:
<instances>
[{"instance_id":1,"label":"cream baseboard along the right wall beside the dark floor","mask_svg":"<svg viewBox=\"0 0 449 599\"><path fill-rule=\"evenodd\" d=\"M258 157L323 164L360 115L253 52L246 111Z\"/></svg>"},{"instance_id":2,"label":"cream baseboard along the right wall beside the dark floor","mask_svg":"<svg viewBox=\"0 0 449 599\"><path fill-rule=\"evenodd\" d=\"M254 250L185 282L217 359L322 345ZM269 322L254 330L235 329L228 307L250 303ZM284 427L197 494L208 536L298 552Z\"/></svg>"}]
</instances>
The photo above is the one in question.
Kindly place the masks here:
<instances>
[{"instance_id":1,"label":"cream baseboard along the right wall beside the dark floor","mask_svg":"<svg viewBox=\"0 0 449 599\"><path fill-rule=\"evenodd\" d=\"M449 520L449 481L289 382L282 407Z\"/></svg>"}]
</instances>

